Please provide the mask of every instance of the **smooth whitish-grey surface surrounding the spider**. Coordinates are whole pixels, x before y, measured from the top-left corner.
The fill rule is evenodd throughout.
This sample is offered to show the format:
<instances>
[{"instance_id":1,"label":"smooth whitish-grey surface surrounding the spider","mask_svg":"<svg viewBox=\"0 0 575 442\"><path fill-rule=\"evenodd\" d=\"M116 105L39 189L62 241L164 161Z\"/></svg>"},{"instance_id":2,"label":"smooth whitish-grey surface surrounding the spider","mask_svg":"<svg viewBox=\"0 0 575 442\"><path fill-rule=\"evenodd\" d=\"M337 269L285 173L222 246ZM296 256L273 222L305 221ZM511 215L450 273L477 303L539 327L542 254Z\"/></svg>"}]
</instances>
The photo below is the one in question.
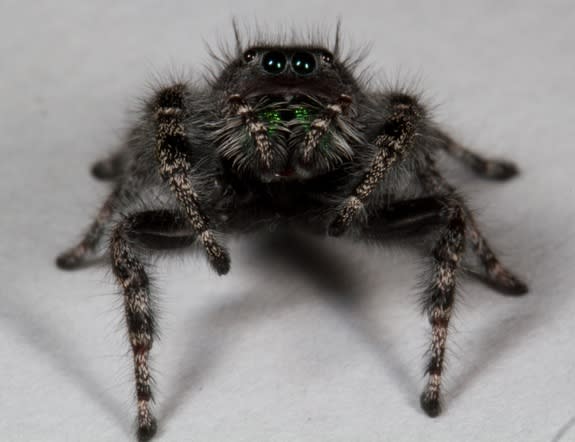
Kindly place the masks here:
<instances>
[{"instance_id":1,"label":"smooth whitish-grey surface surrounding the spider","mask_svg":"<svg viewBox=\"0 0 575 442\"><path fill-rule=\"evenodd\" d=\"M108 191L89 166L146 81L201 72L202 38L228 39L233 15L340 15L346 38L373 42L381 76L416 79L461 140L516 160L509 183L457 178L531 292L462 284L447 407L431 420L417 254L324 242L323 276L248 241L231 242L225 278L197 257L162 261L156 440L575 441L570 0L1 2L0 440L132 440L121 299L104 267L64 273L53 259Z\"/></svg>"}]
</instances>

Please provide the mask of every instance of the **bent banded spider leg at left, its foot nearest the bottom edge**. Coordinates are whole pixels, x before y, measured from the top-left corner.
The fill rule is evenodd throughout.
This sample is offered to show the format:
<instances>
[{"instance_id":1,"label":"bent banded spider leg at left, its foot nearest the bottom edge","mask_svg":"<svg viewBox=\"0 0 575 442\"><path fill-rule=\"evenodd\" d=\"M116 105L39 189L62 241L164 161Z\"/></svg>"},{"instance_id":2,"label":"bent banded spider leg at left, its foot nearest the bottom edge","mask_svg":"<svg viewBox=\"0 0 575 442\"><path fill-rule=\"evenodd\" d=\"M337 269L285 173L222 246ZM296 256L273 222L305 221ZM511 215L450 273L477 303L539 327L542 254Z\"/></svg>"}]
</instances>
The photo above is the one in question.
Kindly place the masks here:
<instances>
[{"instance_id":1,"label":"bent banded spider leg at left, its foot nearest the bottom edge","mask_svg":"<svg viewBox=\"0 0 575 442\"><path fill-rule=\"evenodd\" d=\"M146 249L191 244L195 236L189 235L189 232L187 215L169 211L146 211L129 215L112 230L112 271L123 290L124 313L134 358L140 441L149 440L156 432L156 420L150 411L152 390L149 369L149 354L156 326L150 298L150 280L142 252ZM168 239L168 242L160 242L162 237Z\"/></svg>"}]
</instances>

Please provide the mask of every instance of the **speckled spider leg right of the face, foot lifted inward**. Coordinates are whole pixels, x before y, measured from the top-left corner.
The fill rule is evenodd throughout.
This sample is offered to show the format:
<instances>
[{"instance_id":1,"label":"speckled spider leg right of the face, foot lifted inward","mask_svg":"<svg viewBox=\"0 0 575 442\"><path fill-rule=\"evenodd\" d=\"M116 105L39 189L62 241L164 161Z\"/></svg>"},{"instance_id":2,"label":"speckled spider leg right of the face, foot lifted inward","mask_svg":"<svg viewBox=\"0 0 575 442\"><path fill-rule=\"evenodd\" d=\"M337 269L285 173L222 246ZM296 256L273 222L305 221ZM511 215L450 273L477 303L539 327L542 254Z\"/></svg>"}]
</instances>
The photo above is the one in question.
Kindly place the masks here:
<instances>
[{"instance_id":1,"label":"speckled spider leg right of the face, foot lifted inward","mask_svg":"<svg viewBox=\"0 0 575 442\"><path fill-rule=\"evenodd\" d=\"M391 106L391 115L383 124L381 133L374 142L378 148L377 153L359 185L340 205L328 228L331 236L340 236L349 228L358 214L364 211L364 203L389 168L413 145L416 125L422 116L421 109L414 99L403 94L396 95Z\"/></svg>"}]
</instances>

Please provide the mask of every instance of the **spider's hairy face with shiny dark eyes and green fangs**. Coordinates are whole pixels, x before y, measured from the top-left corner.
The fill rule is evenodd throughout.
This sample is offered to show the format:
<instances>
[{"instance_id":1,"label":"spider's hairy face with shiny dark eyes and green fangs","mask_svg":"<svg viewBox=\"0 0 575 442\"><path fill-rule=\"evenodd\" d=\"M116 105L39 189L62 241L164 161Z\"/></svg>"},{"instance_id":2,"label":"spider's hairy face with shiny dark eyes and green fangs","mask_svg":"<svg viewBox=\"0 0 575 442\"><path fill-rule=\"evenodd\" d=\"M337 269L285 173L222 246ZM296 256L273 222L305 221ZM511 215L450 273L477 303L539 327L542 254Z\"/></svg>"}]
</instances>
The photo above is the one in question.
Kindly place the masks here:
<instances>
[{"instance_id":1,"label":"spider's hairy face with shiny dark eyes and green fangs","mask_svg":"<svg viewBox=\"0 0 575 442\"><path fill-rule=\"evenodd\" d=\"M315 47L252 47L224 70L221 156L265 182L303 181L351 159L358 89L333 54Z\"/></svg>"}]
</instances>

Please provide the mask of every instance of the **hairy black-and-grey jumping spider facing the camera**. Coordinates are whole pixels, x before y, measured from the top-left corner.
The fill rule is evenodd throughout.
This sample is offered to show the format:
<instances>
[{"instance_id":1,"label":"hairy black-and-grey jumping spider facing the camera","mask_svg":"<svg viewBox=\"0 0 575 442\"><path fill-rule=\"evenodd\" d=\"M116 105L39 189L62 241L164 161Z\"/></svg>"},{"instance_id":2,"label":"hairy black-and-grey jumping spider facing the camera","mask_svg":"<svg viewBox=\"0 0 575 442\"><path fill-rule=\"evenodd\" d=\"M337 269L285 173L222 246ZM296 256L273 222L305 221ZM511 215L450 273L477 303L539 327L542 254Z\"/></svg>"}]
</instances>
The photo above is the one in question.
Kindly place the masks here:
<instances>
[{"instance_id":1,"label":"hairy black-and-grey jumping spider facing the camera","mask_svg":"<svg viewBox=\"0 0 575 442\"><path fill-rule=\"evenodd\" d=\"M138 437L156 432L148 356L156 330L147 258L197 245L228 273L220 234L270 223L319 235L383 240L425 235L430 266L423 305L431 323L421 407L440 411L447 329L466 246L492 287L527 286L497 259L463 198L437 168L438 152L483 178L507 180L510 162L485 159L454 141L407 90L370 88L323 44L259 42L220 58L205 85L158 87L123 147L92 172L114 190L62 269L82 266L105 234L123 291L133 351Z\"/></svg>"}]
</instances>

